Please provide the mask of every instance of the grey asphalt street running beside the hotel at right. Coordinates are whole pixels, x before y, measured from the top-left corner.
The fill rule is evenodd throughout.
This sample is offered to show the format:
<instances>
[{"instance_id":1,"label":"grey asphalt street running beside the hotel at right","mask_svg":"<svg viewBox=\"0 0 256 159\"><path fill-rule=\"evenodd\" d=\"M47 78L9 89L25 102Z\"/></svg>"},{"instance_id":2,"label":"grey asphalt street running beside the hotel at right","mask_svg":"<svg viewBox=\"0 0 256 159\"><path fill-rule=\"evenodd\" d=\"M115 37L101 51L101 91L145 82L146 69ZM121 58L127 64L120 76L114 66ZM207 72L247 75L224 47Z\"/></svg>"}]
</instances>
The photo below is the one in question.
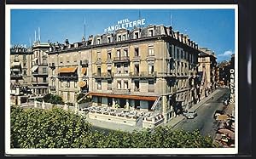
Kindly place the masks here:
<instances>
[{"instance_id":1,"label":"grey asphalt street running beside the hotel at right","mask_svg":"<svg viewBox=\"0 0 256 159\"><path fill-rule=\"evenodd\" d=\"M228 88L218 89L220 91L213 96L213 99L207 100L205 104L196 110L198 116L194 119L185 119L179 122L173 129L183 128L190 132L198 129L201 135L210 135L213 138L218 128L218 122L213 118L213 114L216 110L224 109L223 99L230 91Z\"/></svg>"}]
</instances>

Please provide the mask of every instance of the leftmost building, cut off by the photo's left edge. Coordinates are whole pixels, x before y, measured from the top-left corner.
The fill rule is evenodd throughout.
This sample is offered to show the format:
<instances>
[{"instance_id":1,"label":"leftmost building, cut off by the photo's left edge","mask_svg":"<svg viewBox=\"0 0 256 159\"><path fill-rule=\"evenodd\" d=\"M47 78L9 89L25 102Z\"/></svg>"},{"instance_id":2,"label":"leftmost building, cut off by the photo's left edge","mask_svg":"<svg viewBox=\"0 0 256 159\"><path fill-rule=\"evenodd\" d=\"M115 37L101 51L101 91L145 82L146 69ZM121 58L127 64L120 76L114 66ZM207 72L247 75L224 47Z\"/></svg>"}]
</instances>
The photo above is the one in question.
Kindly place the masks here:
<instances>
[{"instance_id":1,"label":"leftmost building, cut off by the photo's left edge","mask_svg":"<svg viewBox=\"0 0 256 159\"><path fill-rule=\"evenodd\" d=\"M13 105L26 102L26 95L31 93L31 54L30 48L10 48L10 96Z\"/></svg>"}]
</instances>

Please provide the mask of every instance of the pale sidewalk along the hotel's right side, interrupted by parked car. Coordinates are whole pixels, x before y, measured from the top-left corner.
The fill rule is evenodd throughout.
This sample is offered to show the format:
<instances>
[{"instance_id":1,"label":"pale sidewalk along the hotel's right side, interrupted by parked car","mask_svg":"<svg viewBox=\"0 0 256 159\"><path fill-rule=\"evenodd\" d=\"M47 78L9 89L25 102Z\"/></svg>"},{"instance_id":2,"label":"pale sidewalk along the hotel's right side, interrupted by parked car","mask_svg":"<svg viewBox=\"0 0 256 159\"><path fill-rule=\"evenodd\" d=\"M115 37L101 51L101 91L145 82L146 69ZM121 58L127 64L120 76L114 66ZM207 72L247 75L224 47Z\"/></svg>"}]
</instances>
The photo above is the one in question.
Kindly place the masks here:
<instances>
[{"instance_id":1,"label":"pale sidewalk along the hotel's right side, interrupted by parked car","mask_svg":"<svg viewBox=\"0 0 256 159\"><path fill-rule=\"evenodd\" d=\"M189 110L196 111L201 105L205 104L209 99L212 98L213 95L217 94L220 90L215 89L212 94L209 94L206 98L202 99L199 103L195 104ZM171 128L175 127L179 122L182 122L186 117L185 116L177 116L171 119L171 121L162 124L162 126L171 126Z\"/></svg>"}]
</instances>

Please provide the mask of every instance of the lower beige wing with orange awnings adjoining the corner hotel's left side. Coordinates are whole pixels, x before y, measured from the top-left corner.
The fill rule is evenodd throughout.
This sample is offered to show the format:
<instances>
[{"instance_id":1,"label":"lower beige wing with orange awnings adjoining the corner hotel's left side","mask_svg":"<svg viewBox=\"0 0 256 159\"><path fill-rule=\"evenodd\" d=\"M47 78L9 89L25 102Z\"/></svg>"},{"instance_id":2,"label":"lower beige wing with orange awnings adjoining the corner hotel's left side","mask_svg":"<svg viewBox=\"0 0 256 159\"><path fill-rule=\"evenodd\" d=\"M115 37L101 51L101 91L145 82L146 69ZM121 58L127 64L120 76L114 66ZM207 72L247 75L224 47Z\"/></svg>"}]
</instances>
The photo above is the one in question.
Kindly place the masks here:
<instances>
[{"instance_id":1,"label":"lower beige wing with orange awnings adjoining the corner hotel's left side","mask_svg":"<svg viewBox=\"0 0 256 159\"><path fill-rule=\"evenodd\" d=\"M77 102L79 93L89 92L90 43L54 43L49 48L49 93L58 94L68 103Z\"/></svg>"}]
</instances>

